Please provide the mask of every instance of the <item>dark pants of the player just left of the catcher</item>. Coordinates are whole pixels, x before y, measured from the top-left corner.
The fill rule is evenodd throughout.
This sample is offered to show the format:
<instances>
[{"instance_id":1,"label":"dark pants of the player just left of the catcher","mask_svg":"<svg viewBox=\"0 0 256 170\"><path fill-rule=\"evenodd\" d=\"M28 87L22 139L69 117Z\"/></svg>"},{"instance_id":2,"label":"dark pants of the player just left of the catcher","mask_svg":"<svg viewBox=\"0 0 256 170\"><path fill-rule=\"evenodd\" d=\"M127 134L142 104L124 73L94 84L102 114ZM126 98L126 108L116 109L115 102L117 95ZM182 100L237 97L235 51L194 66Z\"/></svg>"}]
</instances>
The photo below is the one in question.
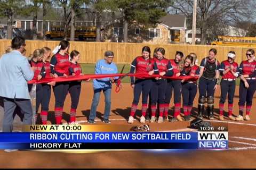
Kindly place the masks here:
<instances>
[{"instance_id":1,"label":"dark pants of the player just left of the catcher","mask_svg":"<svg viewBox=\"0 0 256 170\"><path fill-rule=\"evenodd\" d=\"M194 99L196 97L197 92L197 84L194 83L182 83L182 99L183 99L183 106L193 106Z\"/></svg>"}]
</instances>

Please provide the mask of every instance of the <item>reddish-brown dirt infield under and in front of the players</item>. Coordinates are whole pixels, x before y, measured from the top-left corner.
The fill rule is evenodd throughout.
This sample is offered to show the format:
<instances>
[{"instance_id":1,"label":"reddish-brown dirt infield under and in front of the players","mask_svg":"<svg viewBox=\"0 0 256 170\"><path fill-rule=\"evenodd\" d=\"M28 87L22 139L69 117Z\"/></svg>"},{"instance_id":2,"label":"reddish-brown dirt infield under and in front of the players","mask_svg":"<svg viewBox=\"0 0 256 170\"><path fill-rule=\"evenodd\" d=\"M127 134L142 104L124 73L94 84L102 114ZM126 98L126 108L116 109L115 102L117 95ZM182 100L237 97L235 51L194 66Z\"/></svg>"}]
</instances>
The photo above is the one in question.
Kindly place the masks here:
<instances>
[{"instance_id":1,"label":"reddish-brown dirt infield under and in front of the players","mask_svg":"<svg viewBox=\"0 0 256 170\"><path fill-rule=\"evenodd\" d=\"M87 123L93 97L92 83L83 83L81 99L77 109L77 121ZM196 96L193 112L196 113ZM215 92L215 120L217 118L220 90ZM111 124L127 124L133 99L129 83L123 84L123 89L116 94L112 91ZM255 99L255 98L254 98ZM255 102L255 101L254 101ZM173 100L171 101L173 106ZM253 104L255 106L255 103ZM66 99L63 119L68 121L70 97ZM139 124L141 104L138 106L137 121ZM54 122L54 96L50 104L49 124ZM104 111L104 97L101 94L97 112L97 124ZM227 103L225 104L227 111ZM17 151L5 153L0 151L0 168L255 168L256 155L256 116L252 107L251 121L231 122L225 120L229 129L229 150L227 151L108 151L90 154L67 154L59 152ZM173 109L169 112L172 114ZM234 114L238 114L238 86L234 99ZM225 112L227 115L227 112ZM65 121L64 121L65 122ZM175 131L186 129L189 122L149 123L152 131ZM221 123L220 123L221 124ZM132 126L132 125L131 125Z\"/></svg>"}]
</instances>

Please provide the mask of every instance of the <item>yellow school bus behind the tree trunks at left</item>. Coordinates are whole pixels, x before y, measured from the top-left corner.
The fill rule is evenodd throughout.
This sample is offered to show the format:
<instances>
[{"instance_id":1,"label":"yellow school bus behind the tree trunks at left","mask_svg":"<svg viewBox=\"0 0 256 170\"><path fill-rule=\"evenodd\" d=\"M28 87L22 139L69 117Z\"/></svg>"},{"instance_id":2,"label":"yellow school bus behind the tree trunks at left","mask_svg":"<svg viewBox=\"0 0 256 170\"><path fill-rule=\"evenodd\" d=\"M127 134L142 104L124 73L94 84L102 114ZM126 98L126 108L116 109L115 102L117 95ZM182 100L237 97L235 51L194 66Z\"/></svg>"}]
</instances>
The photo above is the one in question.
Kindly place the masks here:
<instances>
[{"instance_id":1,"label":"yellow school bus behind the tree trunks at left","mask_svg":"<svg viewBox=\"0 0 256 170\"><path fill-rule=\"evenodd\" d=\"M67 37L70 37L70 26L68 27ZM54 25L51 27L50 31L45 33L47 39L52 38L62 38L64 36L64 27L59 25ZM75 27L75 38L79 40L86 40L87 38L96 38L96 27L85 27L76 26Z\"/></svg>"}]
</instances>

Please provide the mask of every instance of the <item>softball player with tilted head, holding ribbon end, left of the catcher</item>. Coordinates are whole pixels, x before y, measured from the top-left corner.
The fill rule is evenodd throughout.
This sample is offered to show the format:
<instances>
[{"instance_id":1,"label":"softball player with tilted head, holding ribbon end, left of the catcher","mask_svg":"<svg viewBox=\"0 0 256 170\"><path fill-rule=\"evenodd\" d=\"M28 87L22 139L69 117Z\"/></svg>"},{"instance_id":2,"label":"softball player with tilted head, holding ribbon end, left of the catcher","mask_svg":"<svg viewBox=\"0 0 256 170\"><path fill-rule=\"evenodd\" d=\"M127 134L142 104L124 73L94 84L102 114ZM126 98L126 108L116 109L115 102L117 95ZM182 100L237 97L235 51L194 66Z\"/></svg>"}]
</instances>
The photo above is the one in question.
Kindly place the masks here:
<instances>
[{"instance_id":1,"label":"softball player with tilted head, holding ribbon end, left of the catcher","mask_svg":"<svg viewBox=\"0 0 256 170\"><path fill-rule=\"evenodd\" d=\"M196 62L196 55L191 56L188 55L185 58L185 63L183 70L181 71L182 76L192 76L195 77L199 75L199 67L195 64ZM191 121L191 109L193 107L193 102L196 97L197 93L197 83L196 81L185 81L181 80L182 83L182 89L181 89L181 94L182 94L182 100L183 100L183 112L184 112L184 118L185 121Z\"/></svg>"}]
</instances>

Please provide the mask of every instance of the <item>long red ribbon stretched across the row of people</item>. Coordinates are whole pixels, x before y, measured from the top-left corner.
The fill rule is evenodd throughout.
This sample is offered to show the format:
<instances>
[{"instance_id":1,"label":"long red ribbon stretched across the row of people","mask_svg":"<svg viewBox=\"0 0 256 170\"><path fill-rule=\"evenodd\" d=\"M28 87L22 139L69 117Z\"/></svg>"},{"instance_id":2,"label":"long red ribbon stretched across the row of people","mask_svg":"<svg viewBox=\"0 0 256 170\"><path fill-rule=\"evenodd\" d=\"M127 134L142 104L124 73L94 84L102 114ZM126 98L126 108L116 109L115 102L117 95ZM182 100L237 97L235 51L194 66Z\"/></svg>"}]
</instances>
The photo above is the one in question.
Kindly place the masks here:
<instances>
[{"instance_id":1,"label":"long red ribbon stretched across the row of people","mask_svg":"<svg viewBox=\"0 0 256 170\"><path fill-rule=\"evenodd\" d=\"M139 77L139 78L156 78L156 77L161 77L160 75L153 74L145 74L145 73L130 73L130 74L84 74L84 75L70 75L67 77L57 77L57 78L44 78L41 80L31 80L28 81L28 84L34 84L34 83L49 83L52 81L55 82L67 82L67 81L78 81L78 80L88 80L88 79L101 79L101 78L110 78L110 77L122 77L122 76L130 76L130 77ZM166 77L163 76L161 78L166 78L166 79L172 79L172 80L191 80L191 81L196 81L198 77L191 77L191 76L180 76L180 77ZM121 82L120 82L121 83Z\"/></svg>"}]
</instances>

